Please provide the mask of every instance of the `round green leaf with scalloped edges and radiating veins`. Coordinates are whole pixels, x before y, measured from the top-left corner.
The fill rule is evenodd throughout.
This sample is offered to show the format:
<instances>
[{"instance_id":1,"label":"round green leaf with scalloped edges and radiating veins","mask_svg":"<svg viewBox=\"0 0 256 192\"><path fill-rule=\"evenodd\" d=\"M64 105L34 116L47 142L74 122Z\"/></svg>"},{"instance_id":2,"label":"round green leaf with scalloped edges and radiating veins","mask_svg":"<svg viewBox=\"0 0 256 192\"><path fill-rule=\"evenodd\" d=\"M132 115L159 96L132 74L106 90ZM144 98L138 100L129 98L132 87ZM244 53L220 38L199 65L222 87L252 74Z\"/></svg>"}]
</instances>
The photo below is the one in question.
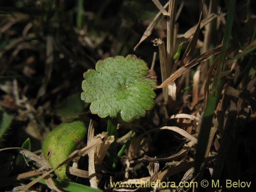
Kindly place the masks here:
<instances>
[{"instance_id":1,"label":"round green leaf with scalloped edges and radiating veins","mask_svg":"<svg viewBox=\"0 0 256 192\"><path fill-rule=\"evenodd\" d=\"M156 83L147 78L148 68L135 55L109 57L96 63L96 70L84 73L81 99L91 103L90 110L104 118L126 121L144 116L155 104Z\"/></svg>"}]
</instances>

